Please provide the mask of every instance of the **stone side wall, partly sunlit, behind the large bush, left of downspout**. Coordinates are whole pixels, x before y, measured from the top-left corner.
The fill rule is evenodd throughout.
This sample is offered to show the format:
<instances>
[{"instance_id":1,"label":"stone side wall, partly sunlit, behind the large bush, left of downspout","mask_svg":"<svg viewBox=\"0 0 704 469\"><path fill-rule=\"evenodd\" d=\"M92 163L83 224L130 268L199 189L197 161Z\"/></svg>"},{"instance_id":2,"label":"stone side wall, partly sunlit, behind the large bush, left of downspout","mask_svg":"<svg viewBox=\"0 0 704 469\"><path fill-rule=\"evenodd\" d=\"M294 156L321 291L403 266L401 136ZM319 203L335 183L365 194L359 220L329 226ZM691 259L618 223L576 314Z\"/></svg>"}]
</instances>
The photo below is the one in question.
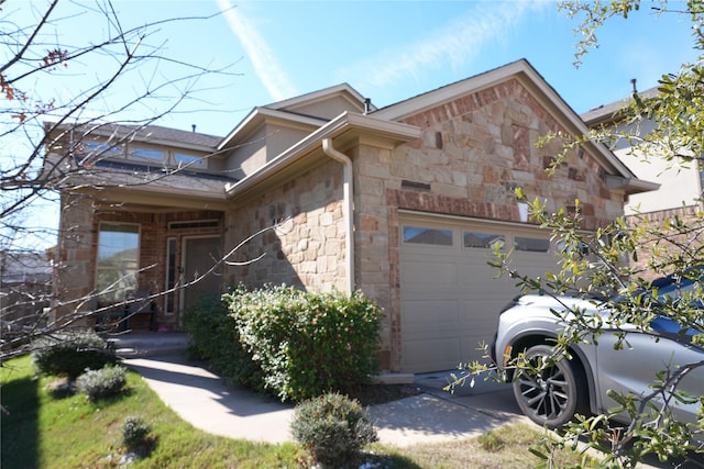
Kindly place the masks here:
<instances>
[{"instance_id":1,"label":"stone side wall, partly sunlit, behind the large bush, left of downspout","mask_svg":"<svg viewBox=\"0 0 704 469\"><path fill-rule=\"evenodd\" d=\"M261 287L285 283L309 291L345 290L342 165L333 160L248 201L228 213L226 247L286 221L246 243L233 260L264 257L230 268L227 281Z\"/></svg>"}]
</instances>

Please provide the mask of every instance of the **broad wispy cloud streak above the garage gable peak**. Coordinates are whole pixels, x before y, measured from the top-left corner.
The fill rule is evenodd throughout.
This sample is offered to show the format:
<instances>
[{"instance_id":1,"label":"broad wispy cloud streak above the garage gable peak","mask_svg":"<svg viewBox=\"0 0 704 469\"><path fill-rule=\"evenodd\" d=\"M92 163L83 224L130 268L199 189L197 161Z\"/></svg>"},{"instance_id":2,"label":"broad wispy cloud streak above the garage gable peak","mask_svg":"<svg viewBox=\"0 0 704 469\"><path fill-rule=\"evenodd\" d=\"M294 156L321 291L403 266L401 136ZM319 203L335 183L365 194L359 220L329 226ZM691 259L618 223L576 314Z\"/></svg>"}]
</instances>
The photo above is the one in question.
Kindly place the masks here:
<instances>
[{"instance_id":1,"label":"broad wispy cloud streak above the garage gable peak","mask_svg":"<svg viewBox=\"0 0 704 469\"><path fill-rule=\"evenodd\" d=\"M385 49L345 67L339 75L362 77L355 82L382 87L441 67L458 68L480 55L487 42L501 42L526 14L549 2L507 1L475 3L472 10L403 48Z\"/></svg>"}]
</instances>

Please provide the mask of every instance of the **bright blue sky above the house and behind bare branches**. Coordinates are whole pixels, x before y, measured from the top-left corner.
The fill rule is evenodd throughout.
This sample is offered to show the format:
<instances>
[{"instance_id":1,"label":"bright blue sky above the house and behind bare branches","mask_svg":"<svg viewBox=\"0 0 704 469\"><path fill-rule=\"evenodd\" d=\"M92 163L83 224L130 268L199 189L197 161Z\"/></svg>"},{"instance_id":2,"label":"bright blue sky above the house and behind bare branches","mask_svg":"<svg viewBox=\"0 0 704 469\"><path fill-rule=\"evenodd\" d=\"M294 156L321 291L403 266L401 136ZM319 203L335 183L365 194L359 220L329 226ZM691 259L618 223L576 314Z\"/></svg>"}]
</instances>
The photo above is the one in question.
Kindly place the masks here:
<instances>
[{"instance_id":1,"label":"bright blue sky above the house and behind bare branches","mask_svg":"<svg viewBox=\"0 0 704 469\"><path fill-rule=\"evenodd\" d=\"M42 0L9 1L3 14L13 21L34 15ZM598 31L600 47L573 66L575 20L552 1L232 1L113 0L124 26L167 18L211 16L160 26L145 43L182 63L222 68L227 74L178 81L164 88L165 99L131 112L145 118L168 105L184 87L195 91L160 123L226 135L253 107L348 82L376 107L411 98L444 85L526 58L566 101L582 113L657 85L662 74L696 58L688 18L649 11ZM676 3L675 3L676 4ZM28 7L30 5L30 7ZM59 4L50 44L86 44L110 33L95 2ZM224 11L222 14L217 14ZM76 15L76 13L79 13ZM102 20L102 21L101 21ZM31 20L30 20L31 24ZM86 90L110 68L110 59L92 59L62 69L61 78L36 81L44 99ZM129 78L90 112L116 108L133 90L183 76L165 60L132 70ZM8 142L3 142L8 148ZM21 148L19 146L18 148ZM55 223L55 206L42 216ZM34 217L36 219L36 217Z\"/></svg>"}]
</instances>

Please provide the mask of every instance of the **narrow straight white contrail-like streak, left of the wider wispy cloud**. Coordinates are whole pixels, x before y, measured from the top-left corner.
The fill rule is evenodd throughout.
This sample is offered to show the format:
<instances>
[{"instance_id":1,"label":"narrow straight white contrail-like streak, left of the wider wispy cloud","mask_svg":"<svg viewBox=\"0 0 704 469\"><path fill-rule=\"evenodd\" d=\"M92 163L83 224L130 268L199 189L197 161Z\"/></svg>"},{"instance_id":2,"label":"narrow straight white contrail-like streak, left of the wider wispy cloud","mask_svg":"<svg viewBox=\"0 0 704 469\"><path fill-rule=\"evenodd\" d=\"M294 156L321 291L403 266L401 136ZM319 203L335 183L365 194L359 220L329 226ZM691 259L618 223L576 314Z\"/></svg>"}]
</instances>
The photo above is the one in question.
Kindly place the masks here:
<instances>
[{"instance_id":1,"label":"narrow straight white contrail-like streak, left of the wider wispy cloud","mask_svg":"<svg viewBox=\"0 0 704 469\"><path fill-rule=\"evenodd\" d=\"M262 80L272 98L275 101L280 101L298 94L296 87L292 85L287 74L278 65L276 56L254 24L240 14L237 8L232 8L229 0L216 0L216 2L230 30L238 36L244 53L252 62L254 72Z\"/></svg>"}]
</instances>

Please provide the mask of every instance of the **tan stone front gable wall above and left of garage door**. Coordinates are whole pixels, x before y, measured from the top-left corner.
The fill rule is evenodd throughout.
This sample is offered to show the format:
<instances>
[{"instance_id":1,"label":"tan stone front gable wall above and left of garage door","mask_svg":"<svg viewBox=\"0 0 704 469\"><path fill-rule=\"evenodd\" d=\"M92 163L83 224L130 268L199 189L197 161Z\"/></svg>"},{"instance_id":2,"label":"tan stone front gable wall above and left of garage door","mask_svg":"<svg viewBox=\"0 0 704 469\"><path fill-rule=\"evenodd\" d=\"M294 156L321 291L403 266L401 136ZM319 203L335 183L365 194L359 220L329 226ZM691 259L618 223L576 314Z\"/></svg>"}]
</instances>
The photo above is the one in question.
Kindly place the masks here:
<instances>
[{"instance_id":1,"label":"tan stone front gable wall above and left of garage door","mask_svg":"<svg viewBox=\"0 0 704 469\"><path fill-rule=\"evenodd\" d=\"M586 153L546 171L561 146L535 146L560 125L517 80L468 94L405 121L419 141L394 150L361 145L354 155L358 288L386 312L383 365L400 366L399 209L520 222L515 187L551 211L580 199L584 227L623 214L624 194L609 191L605 171Z\"/></svg>"}]
</instances>

